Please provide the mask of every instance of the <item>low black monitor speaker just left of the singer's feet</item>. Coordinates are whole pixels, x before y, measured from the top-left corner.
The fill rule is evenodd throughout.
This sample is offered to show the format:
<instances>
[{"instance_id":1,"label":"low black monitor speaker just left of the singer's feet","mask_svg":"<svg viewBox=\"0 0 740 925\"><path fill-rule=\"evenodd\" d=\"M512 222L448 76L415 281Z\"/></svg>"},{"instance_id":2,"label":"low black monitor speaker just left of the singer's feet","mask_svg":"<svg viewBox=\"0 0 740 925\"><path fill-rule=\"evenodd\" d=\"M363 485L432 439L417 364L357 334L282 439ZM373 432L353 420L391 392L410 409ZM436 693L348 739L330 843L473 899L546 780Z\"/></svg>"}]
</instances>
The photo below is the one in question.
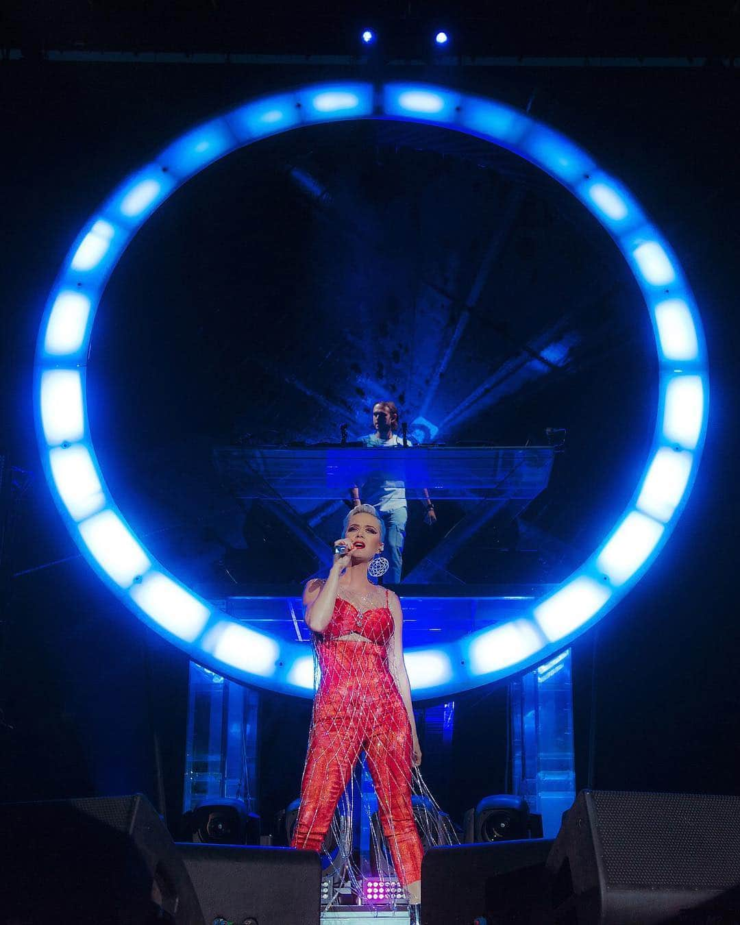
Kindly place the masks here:
<instances>
[{"instance_id":1,"label":"low black monitor speaker just left of the singer's feet","mask_svg":"<svg viewBox=\"0 0 740 925\"><path fill-rule=\"evenodd\" d=\"M315 851L178 845L206 922L318 925L321 859Z\"/></svg>"}]
</instances>

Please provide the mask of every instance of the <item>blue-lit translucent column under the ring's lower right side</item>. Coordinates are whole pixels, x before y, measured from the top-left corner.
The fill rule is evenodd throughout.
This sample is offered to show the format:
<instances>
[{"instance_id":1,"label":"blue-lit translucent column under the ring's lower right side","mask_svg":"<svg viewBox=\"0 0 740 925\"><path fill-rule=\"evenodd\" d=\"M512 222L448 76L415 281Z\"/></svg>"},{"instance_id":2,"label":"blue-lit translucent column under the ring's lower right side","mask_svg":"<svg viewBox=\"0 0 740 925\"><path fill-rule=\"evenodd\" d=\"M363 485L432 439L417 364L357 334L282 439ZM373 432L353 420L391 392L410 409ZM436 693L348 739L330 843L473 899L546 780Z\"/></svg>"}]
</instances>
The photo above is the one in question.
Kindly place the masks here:
<instances>
[{"instance_id":1,"label":"blue-lit translucent column under the ring's lower right side","mask_svg":"<svg viewBox=\"0 0 740 925\"><path fill-rule=\"evenodd\" d=\"M554 838L575 799L571 650L510 682L513 792Z\"/></svg>"}]
</instances>

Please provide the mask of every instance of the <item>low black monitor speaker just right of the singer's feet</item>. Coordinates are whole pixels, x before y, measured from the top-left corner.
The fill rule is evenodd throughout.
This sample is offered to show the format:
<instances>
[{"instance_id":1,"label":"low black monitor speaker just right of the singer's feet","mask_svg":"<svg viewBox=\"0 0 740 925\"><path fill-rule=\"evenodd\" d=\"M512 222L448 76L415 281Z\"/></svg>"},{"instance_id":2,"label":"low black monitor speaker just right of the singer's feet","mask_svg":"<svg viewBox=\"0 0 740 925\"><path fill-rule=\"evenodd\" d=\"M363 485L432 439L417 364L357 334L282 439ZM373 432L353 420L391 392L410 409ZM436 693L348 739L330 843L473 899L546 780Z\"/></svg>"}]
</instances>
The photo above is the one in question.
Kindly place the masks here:
<instances>
[{"instance_id":1,"label":"low black monitor speaker just right of the singer's feet","mask_svg":"<svg viewBox=\"0 0 740 925\"><path fill-rule=\"evenodd\" d=\"M529 925L544 894L552 840L430 848L422 862L423 925Z\"/></svg>"}]
</instances>

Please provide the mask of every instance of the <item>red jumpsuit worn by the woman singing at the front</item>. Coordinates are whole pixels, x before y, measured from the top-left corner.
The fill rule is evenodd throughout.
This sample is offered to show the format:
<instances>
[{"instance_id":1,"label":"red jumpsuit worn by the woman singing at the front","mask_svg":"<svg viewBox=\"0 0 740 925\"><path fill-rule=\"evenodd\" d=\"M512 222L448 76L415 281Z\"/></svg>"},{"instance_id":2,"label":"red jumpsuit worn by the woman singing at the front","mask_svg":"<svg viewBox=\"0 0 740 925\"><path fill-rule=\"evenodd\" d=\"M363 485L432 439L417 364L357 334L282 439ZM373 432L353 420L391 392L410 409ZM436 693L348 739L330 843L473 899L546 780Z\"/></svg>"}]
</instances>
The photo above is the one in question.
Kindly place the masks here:
<instances>
[{"instance_id":1,"label":"red jumpsuit worn by the woman singing at the front","mask_svg":"<svg viewBox=\"0 0 740 925\"><path fill-rule=\"evenodd\" d=\"M361 749L376 787L378 813L403 886L421 879L423 849L411 802L412 732L388 670L393 615L358 611L337 598L316 644L321 681L301 784L294 848L319 851ZM356 633L363 640L338 639Z\"/></svg>"}]
</instances>

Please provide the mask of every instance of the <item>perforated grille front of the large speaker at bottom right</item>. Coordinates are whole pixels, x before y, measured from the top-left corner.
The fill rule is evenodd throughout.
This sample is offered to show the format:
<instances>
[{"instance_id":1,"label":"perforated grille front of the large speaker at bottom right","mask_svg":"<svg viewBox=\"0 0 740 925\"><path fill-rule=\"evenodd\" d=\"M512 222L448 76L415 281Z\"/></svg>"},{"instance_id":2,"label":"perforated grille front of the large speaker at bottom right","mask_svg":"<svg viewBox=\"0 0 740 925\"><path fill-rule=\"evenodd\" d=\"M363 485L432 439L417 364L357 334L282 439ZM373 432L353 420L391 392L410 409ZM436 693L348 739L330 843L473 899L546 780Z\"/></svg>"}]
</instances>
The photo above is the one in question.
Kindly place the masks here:
<instances>
[{"instance_id":1,"label":"perforated grille front of the large speaker at bottom right","mask_svg":"<svg viewBox=\"0 0 740 925\"><path fill-rule=\"evenodd\" d=\"M740 798L594 791L607 889L740 883Z\"/></svg>"}]
</instances>

